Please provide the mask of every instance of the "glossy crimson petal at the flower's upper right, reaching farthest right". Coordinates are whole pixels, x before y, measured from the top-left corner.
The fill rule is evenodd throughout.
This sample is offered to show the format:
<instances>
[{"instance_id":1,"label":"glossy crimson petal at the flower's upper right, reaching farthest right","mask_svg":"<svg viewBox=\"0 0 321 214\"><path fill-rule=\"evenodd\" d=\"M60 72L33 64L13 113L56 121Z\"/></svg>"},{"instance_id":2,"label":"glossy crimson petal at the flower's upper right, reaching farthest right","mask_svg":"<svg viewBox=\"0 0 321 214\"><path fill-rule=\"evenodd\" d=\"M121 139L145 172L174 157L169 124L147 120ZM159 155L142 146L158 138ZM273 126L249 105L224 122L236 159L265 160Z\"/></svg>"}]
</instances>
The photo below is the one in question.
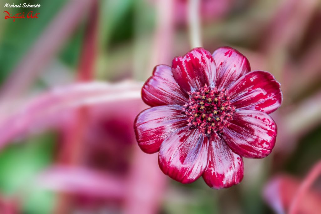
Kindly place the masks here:
<instances>
[{"instance_id":1,"label":"glossy crimson petal at the flower's upper right, reaching farthest right","mask_svg":"<svg viewBox=\"0 0 321 214\"><path fill-rule=\"evenodd\" d=\"M270 114L281 106L280 86L271 73L253 71L239 78L230 87L230 100L238 109L258 110Z\"/></svg>"}]
</instances>

